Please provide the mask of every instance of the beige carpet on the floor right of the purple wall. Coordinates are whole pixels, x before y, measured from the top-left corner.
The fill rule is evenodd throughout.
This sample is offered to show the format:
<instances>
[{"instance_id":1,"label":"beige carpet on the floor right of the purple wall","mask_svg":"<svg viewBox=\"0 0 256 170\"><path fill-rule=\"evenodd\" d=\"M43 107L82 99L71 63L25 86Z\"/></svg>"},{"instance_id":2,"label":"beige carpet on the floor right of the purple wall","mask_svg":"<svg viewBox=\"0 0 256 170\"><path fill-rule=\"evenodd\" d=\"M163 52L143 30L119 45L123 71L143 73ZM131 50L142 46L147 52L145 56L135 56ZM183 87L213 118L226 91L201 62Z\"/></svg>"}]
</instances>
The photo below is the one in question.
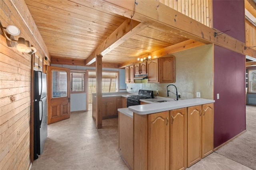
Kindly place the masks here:
<instances>
[{"instance_id":1,"label":"beige carpet on the floor right of the purple wall","mask_svg":"<svg viewBox=\"0 0 256 170\"><path fill-rule=\"evenodd\" d=\"M246 106L246 132L215 152L256 170L256 106Z\"/></svg>"}]
</instances>

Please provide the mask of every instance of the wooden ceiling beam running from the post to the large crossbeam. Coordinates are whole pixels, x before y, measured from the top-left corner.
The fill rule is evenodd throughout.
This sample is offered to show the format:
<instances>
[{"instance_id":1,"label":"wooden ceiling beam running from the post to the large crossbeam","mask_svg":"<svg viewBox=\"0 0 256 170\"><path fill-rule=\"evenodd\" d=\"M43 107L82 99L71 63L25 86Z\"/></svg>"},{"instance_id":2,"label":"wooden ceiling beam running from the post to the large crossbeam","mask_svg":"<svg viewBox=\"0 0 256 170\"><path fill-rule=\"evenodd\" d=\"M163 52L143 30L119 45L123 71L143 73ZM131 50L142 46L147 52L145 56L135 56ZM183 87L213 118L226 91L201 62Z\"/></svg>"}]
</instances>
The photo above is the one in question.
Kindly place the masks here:
<instances>
[{"instance_id":1,"label":"wooden ceiling beam running from the post to the large crossbeam","mask_svg":"<svg viewBox=\"0 0 256 170\"><path fill-rule=\"evenodd\" d=\"M90 65L94 63L97 55L102 55L104 57L108 52L115 49L146 27L148 27L148 24L140 23L135 20L132 20L131 22L131 19L128 18L113 33L111 33L110 36L94 50L94 52L92 52L84 64Z\"/></svg>"}]
</instances>

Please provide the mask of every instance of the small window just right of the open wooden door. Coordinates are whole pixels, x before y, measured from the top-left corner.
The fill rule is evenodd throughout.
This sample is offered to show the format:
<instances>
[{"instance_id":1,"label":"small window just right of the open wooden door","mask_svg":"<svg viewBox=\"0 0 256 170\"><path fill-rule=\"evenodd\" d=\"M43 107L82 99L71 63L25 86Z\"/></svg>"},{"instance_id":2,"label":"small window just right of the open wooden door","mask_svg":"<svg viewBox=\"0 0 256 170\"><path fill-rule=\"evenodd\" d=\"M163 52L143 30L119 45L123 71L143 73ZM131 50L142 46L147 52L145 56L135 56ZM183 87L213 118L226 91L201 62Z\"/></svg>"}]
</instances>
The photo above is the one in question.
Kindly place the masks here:
<instances>
[{"instance_id":1,"label":"small window just right of the open wooden door","mask_svg":"<svg viewBox=\"0 0 256 170\"><path fill-rule=\"evenodd\" d=\"M85 71L71 71L71 92L85 92Z\"/></svg>"}]
</instances>

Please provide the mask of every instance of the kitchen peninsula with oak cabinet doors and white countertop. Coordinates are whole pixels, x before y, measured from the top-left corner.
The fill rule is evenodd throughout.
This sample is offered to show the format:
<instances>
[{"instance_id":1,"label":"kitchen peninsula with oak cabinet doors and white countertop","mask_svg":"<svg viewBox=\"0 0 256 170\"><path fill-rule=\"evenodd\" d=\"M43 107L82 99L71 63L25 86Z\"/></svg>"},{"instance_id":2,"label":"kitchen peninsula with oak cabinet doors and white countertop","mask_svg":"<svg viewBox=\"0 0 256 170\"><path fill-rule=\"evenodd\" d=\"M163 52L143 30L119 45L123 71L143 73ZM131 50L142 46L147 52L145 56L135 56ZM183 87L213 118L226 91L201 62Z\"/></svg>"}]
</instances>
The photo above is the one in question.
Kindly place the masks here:
<instances>
[{"instance_id":1,"label":"kitchen peninsula with oak cabinet doors and white countertop","mask_svg":"<svg viewBox=\"0 0 256 170\"><path fill-rule=\"evenodd\" d=\"M186 169L213 152L214 100L147 100L118 109L119 149L130 169Z\"/></svg>"}]
</instances>

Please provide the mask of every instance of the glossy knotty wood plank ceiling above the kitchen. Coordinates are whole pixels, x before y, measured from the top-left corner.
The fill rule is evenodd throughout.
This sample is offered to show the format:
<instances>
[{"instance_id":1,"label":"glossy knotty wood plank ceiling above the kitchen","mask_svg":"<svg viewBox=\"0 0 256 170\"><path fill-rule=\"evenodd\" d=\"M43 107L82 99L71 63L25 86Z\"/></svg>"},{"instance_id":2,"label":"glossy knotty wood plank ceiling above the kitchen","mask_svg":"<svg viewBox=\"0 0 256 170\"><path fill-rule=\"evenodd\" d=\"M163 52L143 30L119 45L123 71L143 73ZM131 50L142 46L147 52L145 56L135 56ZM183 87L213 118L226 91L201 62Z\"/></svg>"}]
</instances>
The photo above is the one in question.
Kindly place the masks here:
<instances>
[{"instance_id":1,"label":"glossy knotty wood plank ceiling above the kitchen","mask_svg":"<svg viewBox=\"0 0 256 170\"><path fill-rule=\"evenodd\" d=\"M25 0L51 57L87 59L127 18L89 0ZM136 15L136 13L135 13ZM103 56L120 64L188 40L151 25Z\"/></svg>"}]
</instances>

